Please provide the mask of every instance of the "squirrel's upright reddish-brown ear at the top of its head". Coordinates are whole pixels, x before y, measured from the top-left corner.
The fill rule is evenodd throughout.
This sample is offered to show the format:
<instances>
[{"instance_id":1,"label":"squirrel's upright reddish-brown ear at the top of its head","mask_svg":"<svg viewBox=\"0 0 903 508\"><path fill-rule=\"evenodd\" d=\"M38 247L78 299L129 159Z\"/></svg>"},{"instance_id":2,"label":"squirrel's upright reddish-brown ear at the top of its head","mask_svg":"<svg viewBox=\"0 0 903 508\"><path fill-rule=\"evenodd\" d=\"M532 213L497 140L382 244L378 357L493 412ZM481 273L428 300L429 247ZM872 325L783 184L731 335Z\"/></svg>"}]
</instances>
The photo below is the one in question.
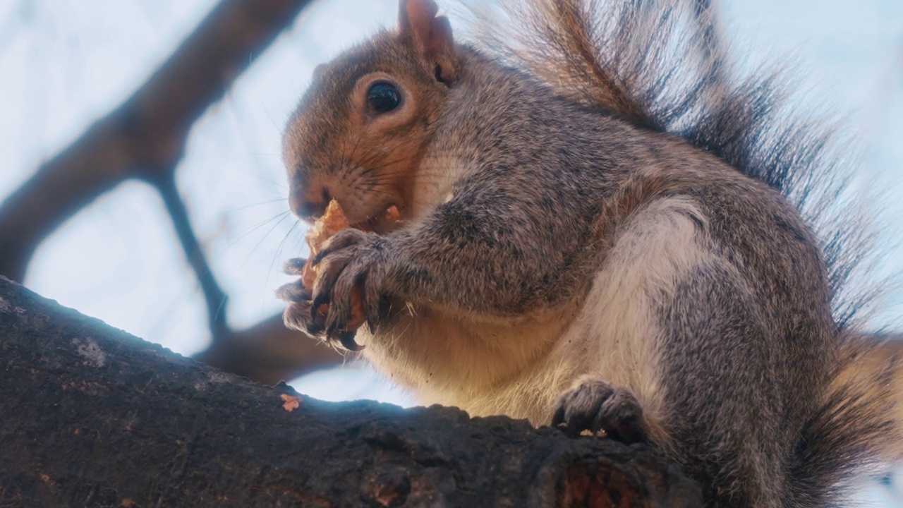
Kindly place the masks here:
<instances>
[{"instance_id":1,"label":"squirrel's upright reddish-brown ear at the top of its head","mask_svg":"<svg viewBox=\"0 0 903 508\"><path fill-rule=\"evenodd\" d=\"M401 0L398 30L435 65L436 80L452 84L457 73L452 24L447 17L437 16L438 12L439 7L433 0Z\"/></svg>"}]
</instances>

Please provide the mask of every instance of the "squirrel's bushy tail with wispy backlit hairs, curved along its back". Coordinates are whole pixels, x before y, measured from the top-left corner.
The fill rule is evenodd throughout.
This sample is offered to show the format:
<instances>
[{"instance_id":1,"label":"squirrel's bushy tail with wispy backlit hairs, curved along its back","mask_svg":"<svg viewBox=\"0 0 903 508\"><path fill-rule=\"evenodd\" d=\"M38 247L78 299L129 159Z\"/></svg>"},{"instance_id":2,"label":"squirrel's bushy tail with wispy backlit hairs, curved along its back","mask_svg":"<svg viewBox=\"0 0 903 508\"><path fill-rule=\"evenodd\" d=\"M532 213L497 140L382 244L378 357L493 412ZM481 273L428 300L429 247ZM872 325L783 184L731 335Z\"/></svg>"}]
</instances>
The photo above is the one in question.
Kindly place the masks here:
<instances>
[{"instance_id":1,"label":"squirrel's bushy tail with wispy backlit hairs, curved along its back","mask_svg":"<svg viewBox=\"0 0 903 508\"><path fill-rule=\"evenodd\" d=\"M896 361L866 368L880 353L856 332L857 313L880 288L848 283L872 250L868 214L850 191L855 165L840 154L835 128L790 114L778 72L737 74L711 0L502 0L470 12L482 51L560 95L683 136L784 193L815 230L844 358L800 439L789 472L797 494L839 493L872 458L898 451Z\"/></svg>"}]
</instances>

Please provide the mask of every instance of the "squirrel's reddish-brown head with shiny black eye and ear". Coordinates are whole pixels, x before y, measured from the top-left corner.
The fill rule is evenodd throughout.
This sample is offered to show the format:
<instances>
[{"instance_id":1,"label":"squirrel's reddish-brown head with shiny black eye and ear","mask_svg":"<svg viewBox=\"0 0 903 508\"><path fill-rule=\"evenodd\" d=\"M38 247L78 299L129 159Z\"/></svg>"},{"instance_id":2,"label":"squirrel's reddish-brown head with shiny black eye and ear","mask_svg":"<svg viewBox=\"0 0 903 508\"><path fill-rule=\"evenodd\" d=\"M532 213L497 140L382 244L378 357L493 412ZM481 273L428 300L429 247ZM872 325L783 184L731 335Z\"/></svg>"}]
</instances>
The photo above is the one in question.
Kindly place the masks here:
<instances>
[{"instance_id":1,"label":"squirrel's reddish-brown head with shiny black eye and ear","mask_svg":"<svg viewBox=\"0 0 903 508\"><path fill-rule=\"evenodd\" d=\"M313 73L284 136L292 211L311 221L330 199L352 224L405 214L406 187L461 62L433 0L401 0L398 29ZM379 224L369 224L379 229Z\"/></svg>"}]
</instances>

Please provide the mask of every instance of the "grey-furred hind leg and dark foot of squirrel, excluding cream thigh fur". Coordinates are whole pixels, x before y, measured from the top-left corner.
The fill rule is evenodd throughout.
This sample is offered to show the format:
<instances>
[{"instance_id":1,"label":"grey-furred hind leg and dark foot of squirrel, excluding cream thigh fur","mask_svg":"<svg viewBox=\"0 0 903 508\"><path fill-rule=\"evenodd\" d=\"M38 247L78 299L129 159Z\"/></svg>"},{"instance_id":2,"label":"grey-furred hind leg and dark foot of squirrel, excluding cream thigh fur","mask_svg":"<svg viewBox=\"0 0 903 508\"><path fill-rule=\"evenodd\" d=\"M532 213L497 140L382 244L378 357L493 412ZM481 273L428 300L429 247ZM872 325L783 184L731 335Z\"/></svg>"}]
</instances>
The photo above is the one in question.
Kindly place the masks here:
<instances>
[{"instance_id":1,"label":"grey-furred hind leg and dark foot of squirrel, excluding cream thigh fur","mask_svg":"<svg viewBox=\"0 0 903 508\"><path fill-rule=\"evenodd\" d=\"M658 448L710 487L709 506L798 505L782 499L786 447L798 428L780 410L796 395L777 378L782 346L768 344L749 285L727 261L706 259L659 304L660 367L642 374L664 391L654 412L601 372L563 393L553 425ZM815 397L807 390L794 389Z\"/></svg>"}]
</instances>

